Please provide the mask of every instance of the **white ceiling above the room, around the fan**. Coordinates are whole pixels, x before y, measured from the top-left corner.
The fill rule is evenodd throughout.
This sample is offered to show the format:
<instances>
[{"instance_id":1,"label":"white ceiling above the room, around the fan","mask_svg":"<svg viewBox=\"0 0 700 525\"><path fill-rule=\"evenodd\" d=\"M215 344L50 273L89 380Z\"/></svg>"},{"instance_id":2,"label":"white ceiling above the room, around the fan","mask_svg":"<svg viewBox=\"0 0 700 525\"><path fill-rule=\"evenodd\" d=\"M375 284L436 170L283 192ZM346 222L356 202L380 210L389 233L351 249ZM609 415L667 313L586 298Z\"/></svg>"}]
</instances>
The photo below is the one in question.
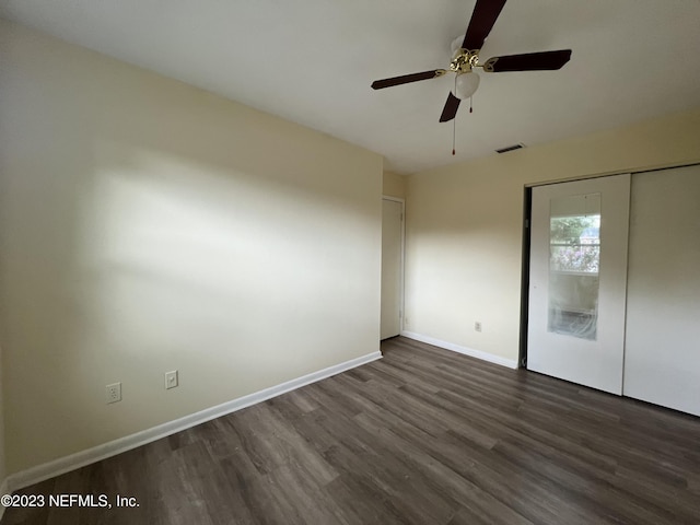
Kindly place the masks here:
<instances>
[{"instance_id":1,"label":"white ceiling above the room, around the fan","mask_svg":"<svg viewBox=\"0 0 700 525\"><path fill-rule=\"evenodd\" d=\"M560 71L481 73L438 121L475 0L0 0L0 16L376 151L415 173L700 106L700 0L510 0L491 56L573 49ZM595 152L591 152L595 154Z\"/></svg>"}]
</instances>

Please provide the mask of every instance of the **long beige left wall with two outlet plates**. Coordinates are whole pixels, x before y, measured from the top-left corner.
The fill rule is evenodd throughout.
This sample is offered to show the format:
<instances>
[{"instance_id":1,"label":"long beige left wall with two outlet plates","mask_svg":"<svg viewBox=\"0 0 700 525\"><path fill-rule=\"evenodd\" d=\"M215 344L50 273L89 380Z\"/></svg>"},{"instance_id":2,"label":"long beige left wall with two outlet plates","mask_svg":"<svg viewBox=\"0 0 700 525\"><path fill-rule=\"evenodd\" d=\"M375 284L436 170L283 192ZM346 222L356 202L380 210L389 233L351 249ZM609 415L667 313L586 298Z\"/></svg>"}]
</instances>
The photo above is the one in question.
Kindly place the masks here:
<instances>
[{"instance_id":1,"label":"long beige left wall with two outlet plates","mask_svg":"<svg viewBox=\"0 0 700 525\"><path fill-rule=\"evenodd\" d=\"M378 350L380 155L0 24L10 474Z\"/></svg>"}]
</instances>

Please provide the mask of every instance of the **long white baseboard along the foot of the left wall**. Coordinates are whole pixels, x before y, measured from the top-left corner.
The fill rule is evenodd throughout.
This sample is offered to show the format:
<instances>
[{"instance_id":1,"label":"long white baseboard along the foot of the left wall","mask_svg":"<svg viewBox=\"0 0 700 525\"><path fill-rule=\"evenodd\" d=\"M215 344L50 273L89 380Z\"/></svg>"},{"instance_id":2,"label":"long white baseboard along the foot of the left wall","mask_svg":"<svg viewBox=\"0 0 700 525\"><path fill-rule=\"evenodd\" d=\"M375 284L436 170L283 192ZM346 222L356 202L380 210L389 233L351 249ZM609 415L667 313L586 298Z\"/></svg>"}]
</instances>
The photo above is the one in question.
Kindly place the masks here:
<instances>
[{"instance_id":1,"label":"long white baseboard along the foot of the left wall","mask_svg":"<svg viewBox=\"0 0 700 525\"><path fill-rule=\"evenodd\" d=\"M26 470L15 472L9 476L8 479L5 479L3 486L5 490L1 493L9 493L19 489L23 489L55 476L60 476L61 474L66 474L77 468L84 467L85 465L100 462L107 457L116 456L117 454L121 454L122 452L127 452L138 446L145 445L176 432L182 432L183 430L187 430L191 427L196 427L197 424L201 424L212 419L220 418L221 416L235 412L236 410L247 408L252 405L266 401L281 394L285 394L296 388L301 388L302 386L316 383L317 381L325 380L326 377L346 372L348 370L370 363L381 358L382 353L377 350L376 352L351 359L350 361L346 361L343 363L319 370L318 372L303 375L295 380L271 386L259 392L255 392L247 396L243 396L211 408L206 408L205 410L201 410L199 412L190 413L189 416L185 416L174 421L168 421L167 423L159 424L158 427L137 432L136 434L126 435L124 438L119 438L118 440L103 443L102 445L97 445L85 451L80 451L69 456L59 457L58 459L54 459L52 462L48 462L42 465L37 465L36 467L28 468Z\"/></svg>"}]
</instances>

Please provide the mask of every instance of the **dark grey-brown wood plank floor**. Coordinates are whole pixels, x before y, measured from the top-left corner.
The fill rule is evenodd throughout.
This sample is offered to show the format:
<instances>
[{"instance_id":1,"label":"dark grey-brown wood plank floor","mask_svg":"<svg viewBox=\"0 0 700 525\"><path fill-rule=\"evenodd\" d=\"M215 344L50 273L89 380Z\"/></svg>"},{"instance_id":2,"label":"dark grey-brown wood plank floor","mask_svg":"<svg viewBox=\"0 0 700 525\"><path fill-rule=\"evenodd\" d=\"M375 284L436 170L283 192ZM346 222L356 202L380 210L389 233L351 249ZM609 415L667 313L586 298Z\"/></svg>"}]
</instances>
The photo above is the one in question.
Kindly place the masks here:
<instances>
[{"instance_id":1,"label":"dark grey-brown wood plank floor","mask_svg":"<svg viewBox=\"0 0 700 525\"><path fill-rule=\"evenodd\" d=\"M10 524L699 524L700 418L405 338L384 359L21 491Z\"/></svg>"}]
</instances>

